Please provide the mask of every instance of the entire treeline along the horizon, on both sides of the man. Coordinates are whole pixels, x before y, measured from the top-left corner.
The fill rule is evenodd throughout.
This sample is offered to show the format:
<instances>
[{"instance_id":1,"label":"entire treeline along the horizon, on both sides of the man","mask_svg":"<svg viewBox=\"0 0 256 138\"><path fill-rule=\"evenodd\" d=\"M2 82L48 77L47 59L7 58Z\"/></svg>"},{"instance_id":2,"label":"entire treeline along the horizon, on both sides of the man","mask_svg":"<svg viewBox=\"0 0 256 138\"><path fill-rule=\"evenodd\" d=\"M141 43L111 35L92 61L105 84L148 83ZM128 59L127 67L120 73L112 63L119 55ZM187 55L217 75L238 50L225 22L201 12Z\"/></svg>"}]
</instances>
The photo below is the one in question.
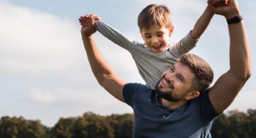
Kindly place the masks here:
<instances>
[{"instance_id":1,"label":"entire treeline along the horizon, on both sides of the man","mask_svg":"<svg viewBox=\"0 0 256 138\"><path fill-rule=\"evenodd\" d=\"M101 116L86 112L76 118L60 118L54 127L42 125L39 120L3 116L0 119L1 138L84 138L132 137L133 114ZM212 137L256 137L256 110L247 113L233 110L219 115L211 128Z\"/></svg>"}]
</instances>

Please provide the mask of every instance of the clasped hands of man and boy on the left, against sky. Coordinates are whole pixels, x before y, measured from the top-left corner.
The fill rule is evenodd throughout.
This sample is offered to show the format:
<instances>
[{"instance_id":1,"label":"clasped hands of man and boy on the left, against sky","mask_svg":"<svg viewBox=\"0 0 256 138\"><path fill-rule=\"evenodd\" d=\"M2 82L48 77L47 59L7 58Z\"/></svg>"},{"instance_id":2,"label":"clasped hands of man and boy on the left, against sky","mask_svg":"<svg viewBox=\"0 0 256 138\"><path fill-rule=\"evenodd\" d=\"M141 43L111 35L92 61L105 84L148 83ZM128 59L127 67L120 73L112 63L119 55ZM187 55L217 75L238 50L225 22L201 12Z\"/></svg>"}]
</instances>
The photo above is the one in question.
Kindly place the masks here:
<instances>
[{"instance_id":1,"label":"clasped hands of man and boy on the left, against sky","mask_svg":"<svg viewBox=\"0 0 256 138\"><path fill-rule=\"evenodd\" d=\"M98 16L95 14L87 14L86 16L81 16L80 19L78 19L80 22L81 28L81 34L83 37L90 37L93 33L96 32L95 29L95 20L101 20Z\"/></svg>"}]
</instances>

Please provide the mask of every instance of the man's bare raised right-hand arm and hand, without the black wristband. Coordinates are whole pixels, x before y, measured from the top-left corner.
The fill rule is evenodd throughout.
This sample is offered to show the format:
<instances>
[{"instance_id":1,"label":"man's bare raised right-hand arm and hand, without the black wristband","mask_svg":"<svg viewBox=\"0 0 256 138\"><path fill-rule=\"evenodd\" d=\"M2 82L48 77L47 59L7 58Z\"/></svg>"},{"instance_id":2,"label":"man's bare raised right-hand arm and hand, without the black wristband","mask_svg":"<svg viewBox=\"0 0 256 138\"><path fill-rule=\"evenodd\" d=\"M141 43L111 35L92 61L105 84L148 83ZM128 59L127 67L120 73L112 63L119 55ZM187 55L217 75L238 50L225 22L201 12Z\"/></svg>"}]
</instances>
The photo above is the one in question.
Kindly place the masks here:
<instances>
[{"instance_id":1,"label":"man's bare raised right-hand arm and hand, without the black wristband","mask_svg":"<svg viewBox=\"0 0 256 138\"><path fill-rule=\"evenodd\" d=\"M208 4L211 3L208 0ZM213 1L213 0L212 0ZM240 16L239 5L236 0L229 0L225 7L213 7L214 13L231 19ZM251 55L248 37L243 20L228 25L230 48L228 72L223 74L211 88L209 98L217 113L222 113L234 100L236 95L251 76Z\"/></svg>"}]
</instances>

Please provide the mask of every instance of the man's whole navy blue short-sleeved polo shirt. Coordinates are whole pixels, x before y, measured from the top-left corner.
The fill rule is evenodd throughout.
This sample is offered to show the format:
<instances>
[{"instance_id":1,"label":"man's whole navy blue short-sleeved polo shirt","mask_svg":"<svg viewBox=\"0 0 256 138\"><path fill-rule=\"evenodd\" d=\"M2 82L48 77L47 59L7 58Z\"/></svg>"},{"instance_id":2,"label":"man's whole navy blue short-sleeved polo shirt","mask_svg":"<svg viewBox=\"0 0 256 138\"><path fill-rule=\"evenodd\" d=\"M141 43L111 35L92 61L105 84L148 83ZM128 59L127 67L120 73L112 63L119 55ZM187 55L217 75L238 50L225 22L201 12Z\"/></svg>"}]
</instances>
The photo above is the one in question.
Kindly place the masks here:
<instances>
[{"instance_id":1,"label":"man's whole navy blue short-sleeved polo shirt","mask_svg":"<svg viewBox=\"0 0 256 138\"><path fill-rule=\"evenodd\" d=\"M218 114L208 92L201 92L178 109L167 109L153 89L139 83L126 84L123 98L134 111L133 137L211 137L211 124Z\"/></svg>"}]
</instances>

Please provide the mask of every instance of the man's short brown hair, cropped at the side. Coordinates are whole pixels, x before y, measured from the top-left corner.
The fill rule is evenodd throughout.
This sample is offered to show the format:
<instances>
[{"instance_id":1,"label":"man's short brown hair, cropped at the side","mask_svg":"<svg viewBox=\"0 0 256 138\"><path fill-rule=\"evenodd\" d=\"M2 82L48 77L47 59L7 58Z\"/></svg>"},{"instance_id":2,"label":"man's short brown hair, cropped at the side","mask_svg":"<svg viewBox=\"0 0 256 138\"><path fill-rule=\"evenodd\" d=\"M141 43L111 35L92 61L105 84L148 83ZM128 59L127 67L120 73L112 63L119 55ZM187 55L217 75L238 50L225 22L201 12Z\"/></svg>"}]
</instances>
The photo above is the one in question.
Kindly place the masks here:
<instances>
[{"instance_id":1,"label":"man's short brown hair, cropped at the side","mask_svg":"<svg viewBox=\"0 0 256 138\"><path fill-rule=\"evenodd\" d=\"M208 88L211 82L213 82L213 70L210 65L199 56L186 53L181 56L179 62L189 67L192 73L195 74L192 88L196 91L204 91L204 89Z\"/></svg>"}]
</instances>

